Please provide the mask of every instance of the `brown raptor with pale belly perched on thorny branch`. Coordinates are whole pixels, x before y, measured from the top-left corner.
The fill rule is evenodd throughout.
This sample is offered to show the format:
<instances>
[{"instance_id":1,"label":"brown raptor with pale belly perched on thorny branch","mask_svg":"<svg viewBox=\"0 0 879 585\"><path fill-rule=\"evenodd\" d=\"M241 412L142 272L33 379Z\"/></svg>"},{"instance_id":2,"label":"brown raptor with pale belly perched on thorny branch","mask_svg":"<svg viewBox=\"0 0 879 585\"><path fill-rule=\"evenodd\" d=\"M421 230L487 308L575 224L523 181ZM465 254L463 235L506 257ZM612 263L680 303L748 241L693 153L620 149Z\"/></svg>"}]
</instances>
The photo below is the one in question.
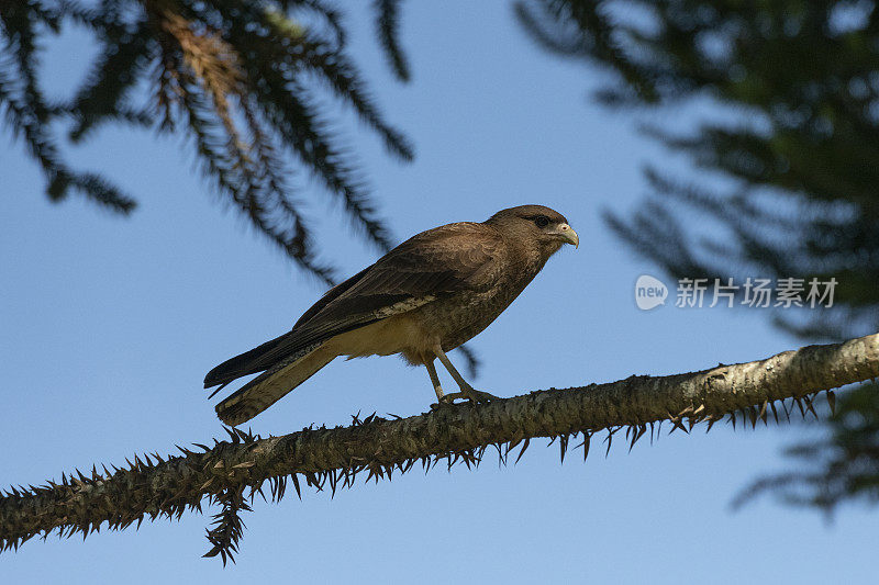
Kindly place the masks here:
<instances>
[{"instance_id":1,"label":"brown raptor with pale belly perched on thorny branch","mask_svg":"<svg viewBox=\"0 0 879 585\"><path fill-rule=\"evenodd\" d=\"M216 404L231 426L252 419L335 358L399 353L424 365L434 407L493 400L475 390L446 353L489 326L565 244L580 239L560 213L520 205L487 221L422 232L330 289L293 328L208 372L204 387L262 372ZM459 387L446 394L434 361Z\"/></svg>"}]
</instances>

